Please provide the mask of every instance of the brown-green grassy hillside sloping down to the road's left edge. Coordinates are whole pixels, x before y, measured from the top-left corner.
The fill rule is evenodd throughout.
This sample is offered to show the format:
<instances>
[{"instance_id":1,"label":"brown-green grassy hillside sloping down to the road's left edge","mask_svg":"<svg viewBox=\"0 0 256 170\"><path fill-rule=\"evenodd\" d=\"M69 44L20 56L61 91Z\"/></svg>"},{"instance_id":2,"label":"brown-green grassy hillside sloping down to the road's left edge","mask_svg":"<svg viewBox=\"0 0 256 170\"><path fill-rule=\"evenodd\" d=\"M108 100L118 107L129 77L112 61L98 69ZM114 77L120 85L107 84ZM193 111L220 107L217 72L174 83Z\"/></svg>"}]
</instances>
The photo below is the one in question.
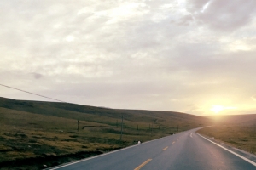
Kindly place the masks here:
<instances>
[{"instance_id":1,"label":"brown-green grassy hillside sloping down to the road's left edge","mask_svg":"<svg viewBox=\"0 0 256 170\"><path fill-rule=\"evenodd\" d=\"M0 167L41 169L211 123L172 111L0 98Z\"/></svg>"}]
</instances>

